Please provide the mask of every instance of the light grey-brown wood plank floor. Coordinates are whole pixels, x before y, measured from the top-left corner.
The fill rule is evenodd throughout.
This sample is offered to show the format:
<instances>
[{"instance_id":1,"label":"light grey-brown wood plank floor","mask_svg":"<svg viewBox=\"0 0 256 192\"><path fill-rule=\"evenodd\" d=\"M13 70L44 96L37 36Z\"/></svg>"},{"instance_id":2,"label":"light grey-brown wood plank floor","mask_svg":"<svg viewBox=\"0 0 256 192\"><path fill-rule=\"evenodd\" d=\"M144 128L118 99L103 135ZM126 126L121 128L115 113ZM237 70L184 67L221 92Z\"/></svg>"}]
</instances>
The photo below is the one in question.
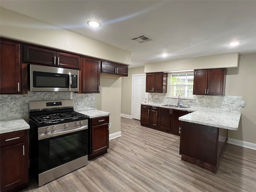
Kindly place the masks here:
<instances>
[{"instance_id":1,"label":"light grey-brown wood plank floor","mask_svg":"<svg viewBox=\"0 0 256 192\"><path fill-rule=\"evenodd\" d=\"M24 192L255 192L256 150L228 144L218 174L181 160L180 137L121 118L121 137L88 165Z\"/></svg>"}]
</instances>

